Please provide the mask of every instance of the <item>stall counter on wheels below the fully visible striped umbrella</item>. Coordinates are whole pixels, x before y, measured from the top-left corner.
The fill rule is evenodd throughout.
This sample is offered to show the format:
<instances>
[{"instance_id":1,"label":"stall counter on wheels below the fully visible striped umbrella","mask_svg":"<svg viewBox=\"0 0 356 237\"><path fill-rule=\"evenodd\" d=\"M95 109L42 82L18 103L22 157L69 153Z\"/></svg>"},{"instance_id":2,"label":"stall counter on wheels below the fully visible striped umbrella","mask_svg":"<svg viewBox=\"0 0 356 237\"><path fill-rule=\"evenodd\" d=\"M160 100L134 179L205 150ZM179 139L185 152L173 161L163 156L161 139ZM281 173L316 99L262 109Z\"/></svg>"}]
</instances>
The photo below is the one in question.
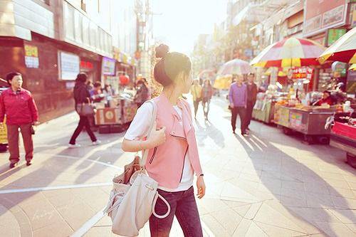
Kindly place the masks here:
<instances>
[{"instance_id":1,"label":"stall counter on wheels below the fully visible striped umbrella","mask_svg":"<svg viewBox=\"0 0 356 237\"><path fill-rule=\"evenodd\" d=\"M295 131L302 133L308 143L313 143L315 139L328 143L330 128L325 130L325 121L334 113L332 108L302 110L276 105L273 122L283 127L287 135Z\"/></svg>"}]
</instances>

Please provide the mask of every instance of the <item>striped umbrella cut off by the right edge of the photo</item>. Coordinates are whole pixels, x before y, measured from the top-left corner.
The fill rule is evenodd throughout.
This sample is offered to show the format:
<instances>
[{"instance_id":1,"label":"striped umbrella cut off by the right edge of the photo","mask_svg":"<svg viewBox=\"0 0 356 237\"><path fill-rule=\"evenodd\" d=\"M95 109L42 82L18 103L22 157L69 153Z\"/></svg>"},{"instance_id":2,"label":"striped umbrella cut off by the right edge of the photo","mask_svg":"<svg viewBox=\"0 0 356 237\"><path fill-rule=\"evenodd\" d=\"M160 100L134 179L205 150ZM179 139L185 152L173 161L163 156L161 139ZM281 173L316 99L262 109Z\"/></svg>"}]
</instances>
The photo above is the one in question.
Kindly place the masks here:
<instances>
[{"instance_id":1,"label":"striped umbrella cut off by the right edge of the photo","mask_svg":"<svg viewBox=\"0 0 356 237\"><path fill-rule=\"evenodd\" d=\"M356 28L345 33L320 55L320 63L326 60L356 63Z\"/></svg>"}]
</instances>

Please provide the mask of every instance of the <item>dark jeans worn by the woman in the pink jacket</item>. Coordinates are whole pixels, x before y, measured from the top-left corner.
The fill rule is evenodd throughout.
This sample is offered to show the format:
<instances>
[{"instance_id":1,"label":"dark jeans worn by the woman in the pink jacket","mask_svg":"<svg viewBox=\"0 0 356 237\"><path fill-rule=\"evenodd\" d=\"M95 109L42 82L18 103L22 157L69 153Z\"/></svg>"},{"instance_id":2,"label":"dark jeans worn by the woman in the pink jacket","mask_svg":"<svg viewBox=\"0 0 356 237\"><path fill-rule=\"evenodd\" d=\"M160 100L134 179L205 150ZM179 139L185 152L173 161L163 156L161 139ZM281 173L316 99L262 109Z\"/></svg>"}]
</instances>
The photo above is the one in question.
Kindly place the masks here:
<instances>
[{"instance_id":1,"label":"dark jeans worn by the woman in the pink jacket","mask_svg":"<svg viewBox=\"0 0 356 237\"><path fill-rule=\"evenodd\" d=\"M158 189L158 193L168 201L171 206L171 212L166 218L162 219L154 215L150 217L151 237L168 237L174 215L177 217L185 237L203 236L193 186L187 191L177 192ZM157 199L155 211L158 215L163 215L167 212L167 206L161 199Z\"/></svg>"}]
</instances>

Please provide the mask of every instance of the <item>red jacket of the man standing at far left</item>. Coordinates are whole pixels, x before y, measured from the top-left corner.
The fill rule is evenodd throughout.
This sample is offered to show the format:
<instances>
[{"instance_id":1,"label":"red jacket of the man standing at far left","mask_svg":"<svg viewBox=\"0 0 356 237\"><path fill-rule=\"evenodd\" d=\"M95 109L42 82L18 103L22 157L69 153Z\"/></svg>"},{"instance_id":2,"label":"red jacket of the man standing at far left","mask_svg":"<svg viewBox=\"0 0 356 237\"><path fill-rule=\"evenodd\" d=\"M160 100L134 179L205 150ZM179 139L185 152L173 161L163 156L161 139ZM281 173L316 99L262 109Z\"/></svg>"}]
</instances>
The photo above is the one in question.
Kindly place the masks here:
<instances>
[{"instance_id":1,"label":"red jacket of the man standing at far left","mask_svg":"<svg viewBox=\"0 0 356 237\"><path fill-rule=\"evenodd\" d=\"M24 125L38 121L36 103L28 90L21 88L14 92L11 88L4 90L0 95L0 122L6 124Z\"/></svg>"}]
</instances>

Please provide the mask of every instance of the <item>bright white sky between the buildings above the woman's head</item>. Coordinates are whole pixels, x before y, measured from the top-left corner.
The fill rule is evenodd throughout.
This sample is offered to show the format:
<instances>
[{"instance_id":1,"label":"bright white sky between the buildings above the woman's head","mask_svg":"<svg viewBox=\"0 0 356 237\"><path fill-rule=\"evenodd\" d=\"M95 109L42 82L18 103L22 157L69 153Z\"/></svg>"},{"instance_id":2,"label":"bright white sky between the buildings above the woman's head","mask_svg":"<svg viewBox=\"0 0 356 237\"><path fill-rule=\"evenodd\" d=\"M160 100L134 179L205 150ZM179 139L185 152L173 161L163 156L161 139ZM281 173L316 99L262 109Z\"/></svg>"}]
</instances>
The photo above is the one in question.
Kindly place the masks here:
<instances>
[{"instance_id":1,"label":"bright white sky between the buildings above the woman's head","mask_svg":"<svg viewBox=\"0 0 356 237\"><path fill-rule=\"evenodd\" d=\"M201 33L226 19L227 0L153 0L154 36L170 51L191 53Z\"/></svg>"}]
</instances>

